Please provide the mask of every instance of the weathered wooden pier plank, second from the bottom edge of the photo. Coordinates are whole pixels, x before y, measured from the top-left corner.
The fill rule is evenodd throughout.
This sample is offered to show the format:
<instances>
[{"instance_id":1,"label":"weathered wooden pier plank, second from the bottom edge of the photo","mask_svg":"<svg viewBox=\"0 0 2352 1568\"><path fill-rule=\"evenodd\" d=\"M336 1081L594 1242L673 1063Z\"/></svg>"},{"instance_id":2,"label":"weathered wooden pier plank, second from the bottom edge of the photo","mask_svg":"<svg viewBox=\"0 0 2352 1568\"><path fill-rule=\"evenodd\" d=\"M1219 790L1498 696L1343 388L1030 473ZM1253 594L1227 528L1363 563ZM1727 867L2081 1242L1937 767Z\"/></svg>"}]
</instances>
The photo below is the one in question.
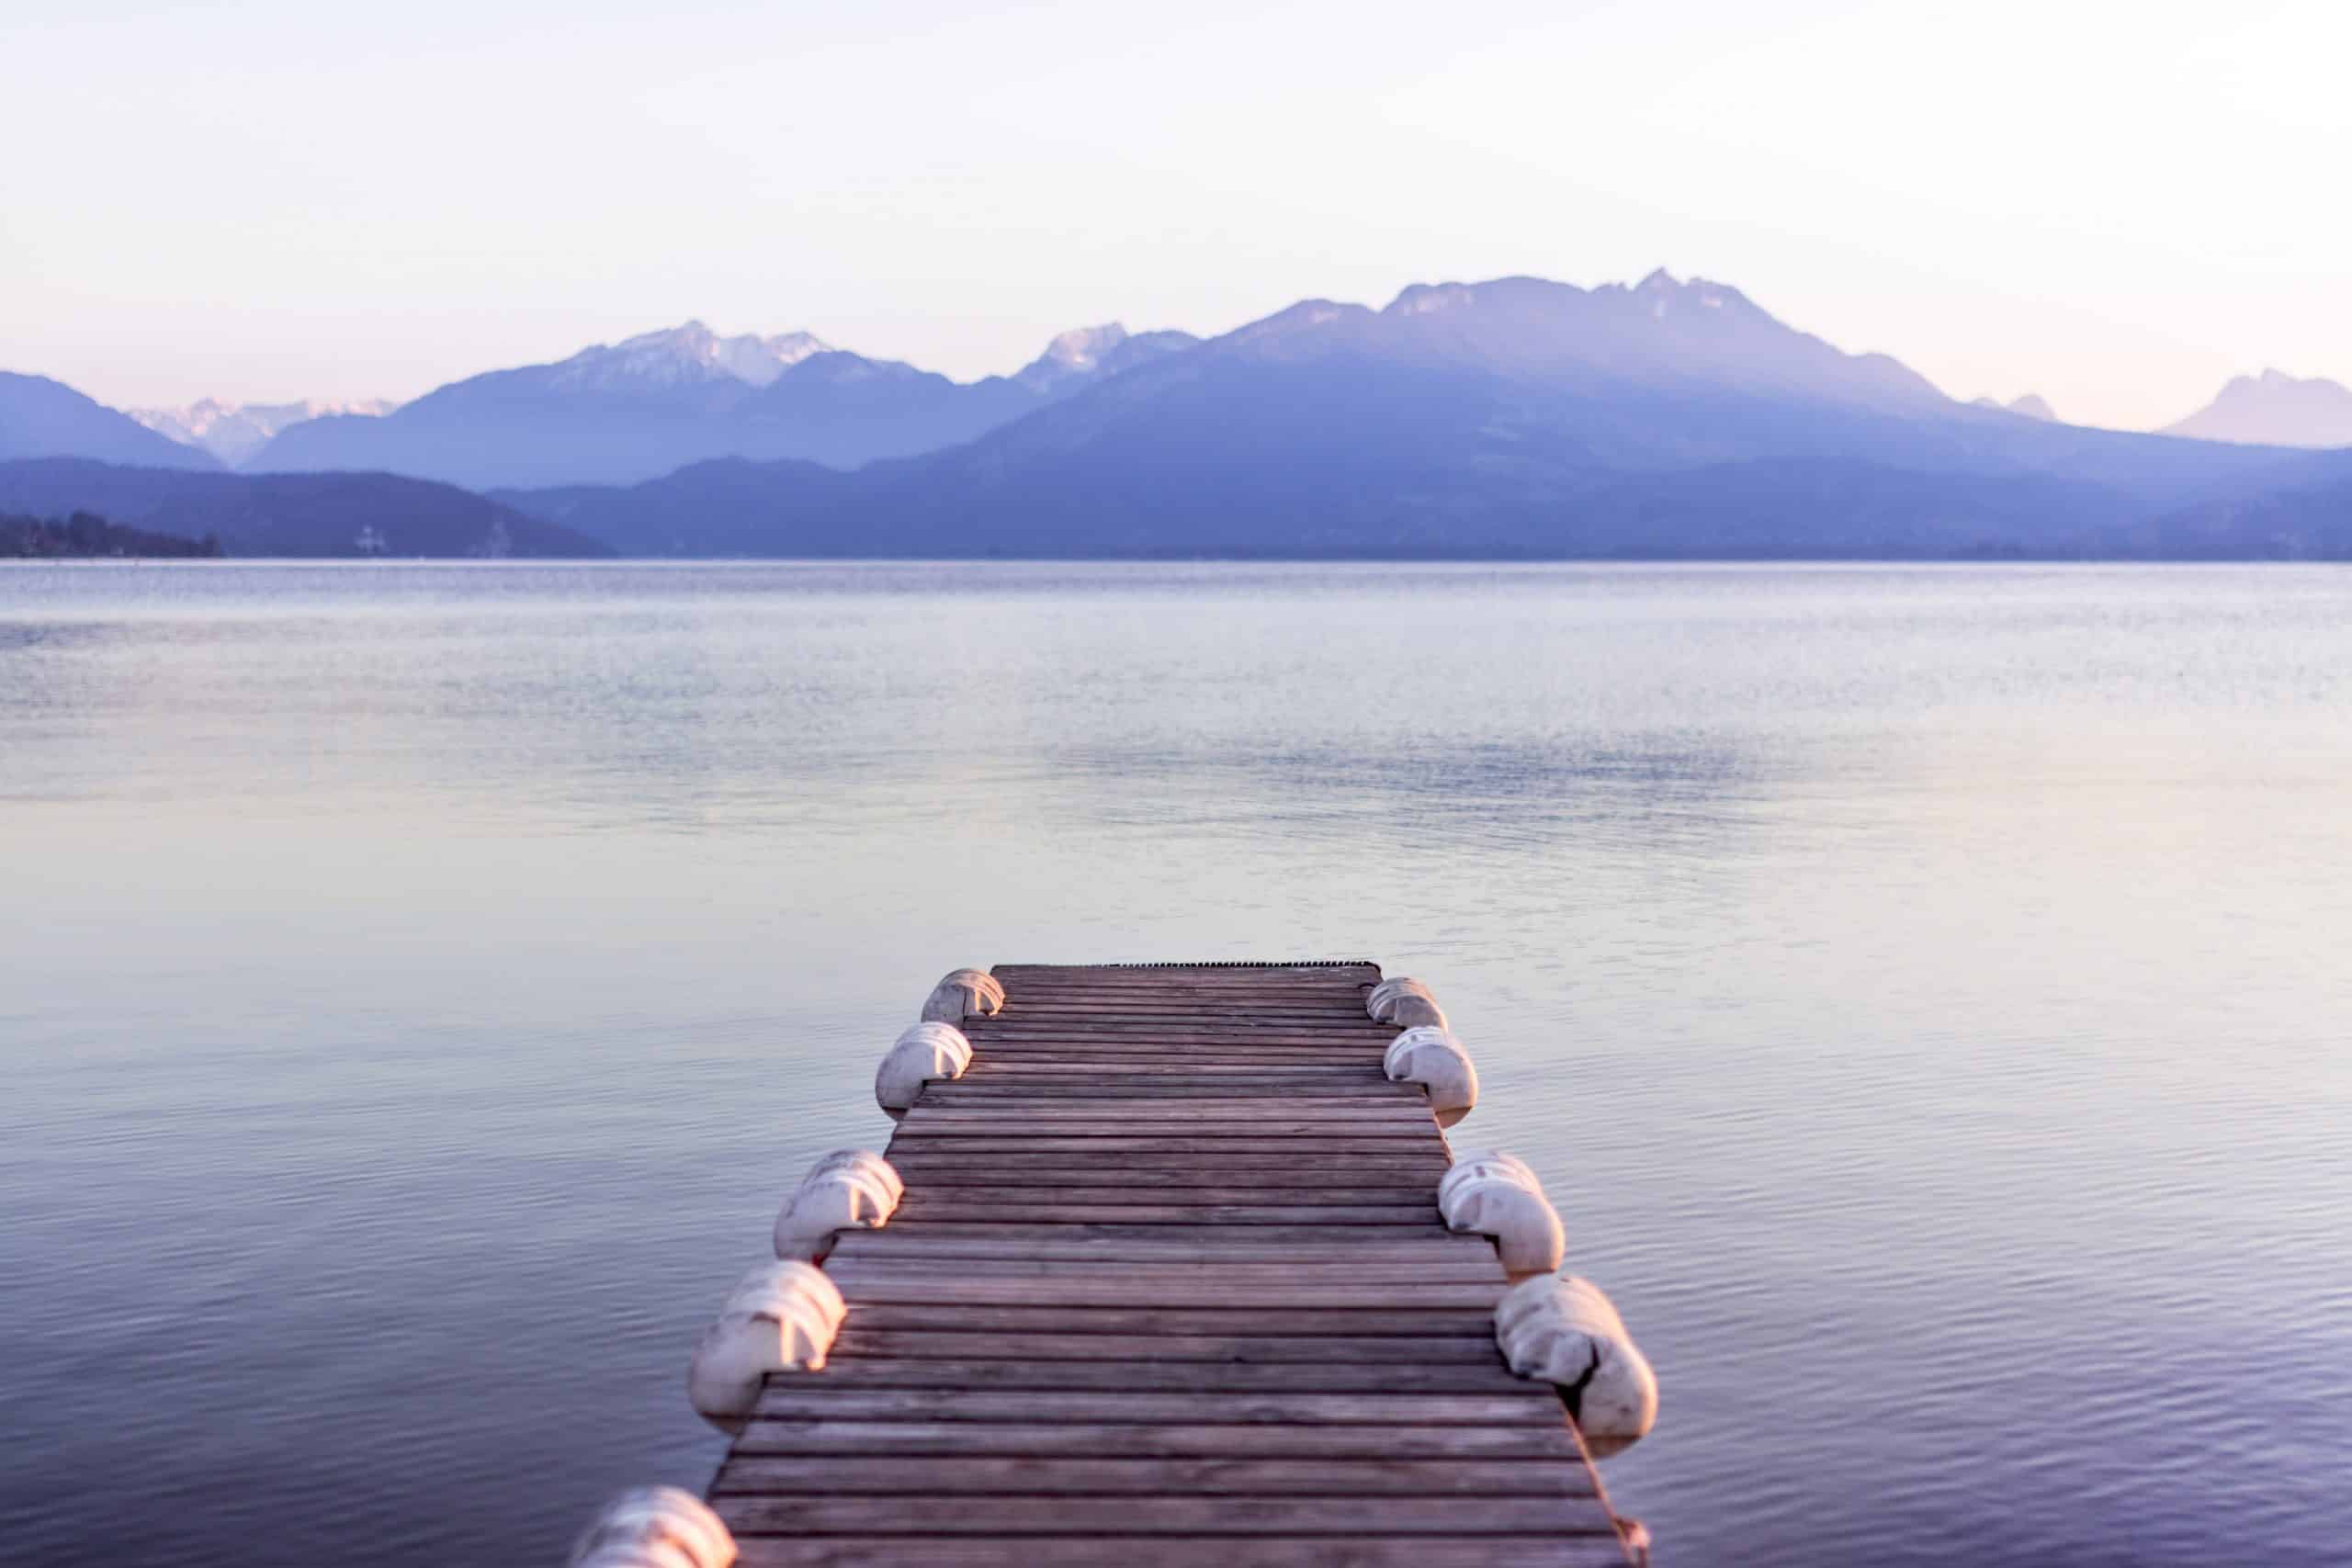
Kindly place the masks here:
<instances>
[{"instance_id":1,"label":"weathered wooden pier plank, second from the bottom edge of the photo","mask_svg":"<svg viewBox=\"0 0 2352 1568\"><path fill-rule=\"evenodd\" d=\"M736 1535L863 1535L908 1528L898 1497L724 1497ZM927 1509L929 1535L1606 1535L1616 1526L1592 1497L957 1497Z\"/></svg>"}]
</instances>

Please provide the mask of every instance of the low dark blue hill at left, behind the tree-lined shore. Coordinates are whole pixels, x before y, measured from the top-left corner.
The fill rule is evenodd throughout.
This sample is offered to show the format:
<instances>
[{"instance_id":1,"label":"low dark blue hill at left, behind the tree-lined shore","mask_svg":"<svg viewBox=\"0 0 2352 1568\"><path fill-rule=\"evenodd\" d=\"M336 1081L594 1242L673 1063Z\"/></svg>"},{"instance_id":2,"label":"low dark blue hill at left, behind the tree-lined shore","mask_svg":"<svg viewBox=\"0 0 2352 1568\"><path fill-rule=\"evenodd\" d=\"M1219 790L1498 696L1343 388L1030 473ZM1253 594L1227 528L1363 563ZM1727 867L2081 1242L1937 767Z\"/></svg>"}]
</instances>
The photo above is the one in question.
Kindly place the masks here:
<instances>
[{"instance_id":1,"label":"low dark blue hill at left, behind the tree-lined shore","mask_svg":"<svg viewBox=\"0 0 2352 1568\"><path fill-rule=\"evenodd\" d=\"M383 473L233 475L24 458L0 463L0 512L96 512L155 534L216 534L228 555L612 555L597 538L485 496Z\"/></svg>"}]
</instances>

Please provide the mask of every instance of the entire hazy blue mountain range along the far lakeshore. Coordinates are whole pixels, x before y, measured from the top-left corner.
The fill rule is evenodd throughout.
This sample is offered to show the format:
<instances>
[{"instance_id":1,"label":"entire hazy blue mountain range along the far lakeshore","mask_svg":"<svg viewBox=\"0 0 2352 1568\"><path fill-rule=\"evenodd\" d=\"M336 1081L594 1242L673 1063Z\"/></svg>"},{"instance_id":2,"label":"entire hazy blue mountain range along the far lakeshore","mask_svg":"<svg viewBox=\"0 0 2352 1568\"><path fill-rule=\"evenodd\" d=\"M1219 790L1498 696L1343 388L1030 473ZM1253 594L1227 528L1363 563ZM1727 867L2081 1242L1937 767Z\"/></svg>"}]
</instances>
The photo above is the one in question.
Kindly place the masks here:
<instances>
[{"instance_id":1,"label":"entire hazy blue mountain range along the far lakeshore","mask_svg":"<svg viewBox=\"0 0 2352 1568\"><path fill-rule=\"evenodd\" d=\"M92 440L160 440L16 383L47 400L52 435L64 397ZM0 451L24 451L9 409ZM270 480L242 494L280 520L313 508L299 538L336 550L388 522L393 470L489 491L466 501L496 510L463 524L463 491L430 491L461 550L830 557L2305 557L2338 550L2347 477L2336 454L2089 430L2039 397L1957 402L1663 270L1416 284L1378 310L1301 301L1207 341L1094 327L976 383L689 322L383 416L292 423L252 468L346 480L235 475ZM174 505L226 517L200 491ZM532 520L555 531L517 529ZM249 550L294 548L289 529L214 531ZM426 538L393 550L440 550Z\"/></svg>"}]
</instances>

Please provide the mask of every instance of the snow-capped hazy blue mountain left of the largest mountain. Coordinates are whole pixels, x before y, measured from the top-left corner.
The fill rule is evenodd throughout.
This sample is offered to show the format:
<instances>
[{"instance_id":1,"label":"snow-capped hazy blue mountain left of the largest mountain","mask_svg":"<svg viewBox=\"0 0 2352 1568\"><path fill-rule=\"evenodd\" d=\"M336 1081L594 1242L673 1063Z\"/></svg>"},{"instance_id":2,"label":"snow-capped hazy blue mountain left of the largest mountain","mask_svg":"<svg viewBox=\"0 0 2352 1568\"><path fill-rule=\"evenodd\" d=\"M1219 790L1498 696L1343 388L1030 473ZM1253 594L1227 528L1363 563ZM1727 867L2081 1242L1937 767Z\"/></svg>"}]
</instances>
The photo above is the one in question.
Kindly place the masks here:
<instances>
[{"instance_id":1,"label":"snow-capped hazy blue mountain left of the largest mountain","mask_svg":"<svg viewBox=\"0 0 2352 1568\"><path fill-rule=\"evenodd\" d=\"M720 456L851 468L967 442L1188 343L1094 327L1063 334L1014 376L957 383L809 334L722 339L687 322L557 364L470 376L383 418L289 425L247 465L374 468L480 489L628 484Z\"/></svg>"}]
</instances>

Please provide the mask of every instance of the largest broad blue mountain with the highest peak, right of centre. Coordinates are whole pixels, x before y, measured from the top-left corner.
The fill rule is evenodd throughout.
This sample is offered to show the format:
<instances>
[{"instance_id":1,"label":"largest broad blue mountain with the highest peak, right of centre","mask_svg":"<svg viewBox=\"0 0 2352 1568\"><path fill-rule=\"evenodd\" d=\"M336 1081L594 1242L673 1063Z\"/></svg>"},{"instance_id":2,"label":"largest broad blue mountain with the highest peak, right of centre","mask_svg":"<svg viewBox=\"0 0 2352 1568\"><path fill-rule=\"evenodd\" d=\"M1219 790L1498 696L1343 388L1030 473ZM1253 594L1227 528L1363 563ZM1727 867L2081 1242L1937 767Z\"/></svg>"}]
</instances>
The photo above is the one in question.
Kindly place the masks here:
<instances>
[{"instance_id":1,"label":"largest broad blue mountain with the highest peak, right of centre","mask_svg":"<svg viewBox=\"0 0 2352 1568\"><path fill-rule=\"evenodd\" d=\"M623 552L2070 555L2281 456L1973 409L1653 273L1305 301L856 475L508 498Z\"/></svg>"}]
</instances>

